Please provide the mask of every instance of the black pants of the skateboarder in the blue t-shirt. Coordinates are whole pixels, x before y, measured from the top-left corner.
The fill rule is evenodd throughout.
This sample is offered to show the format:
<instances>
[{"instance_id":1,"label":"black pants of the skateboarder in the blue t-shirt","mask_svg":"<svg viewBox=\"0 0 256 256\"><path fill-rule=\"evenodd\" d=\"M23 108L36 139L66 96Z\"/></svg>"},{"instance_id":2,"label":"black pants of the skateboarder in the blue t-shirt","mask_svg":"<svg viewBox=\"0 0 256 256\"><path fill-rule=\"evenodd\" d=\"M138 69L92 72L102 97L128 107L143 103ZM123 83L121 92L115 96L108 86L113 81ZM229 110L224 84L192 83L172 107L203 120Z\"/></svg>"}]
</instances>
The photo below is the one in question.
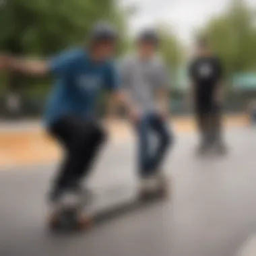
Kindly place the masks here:
<instances>
[{"instance_id":1,"label":"black pants of the skateboarder in the blue t-shirt","mask_svg":"<svg viewBox=\"0 0 256 256\"><path fill-rule=\"evenodd\" d=\"M104 130L96 121L68 116L53 123L49 131L64 149L53 188L77 185L90 172L92 162L106 139Z\"/></svg>"}]
</instances>

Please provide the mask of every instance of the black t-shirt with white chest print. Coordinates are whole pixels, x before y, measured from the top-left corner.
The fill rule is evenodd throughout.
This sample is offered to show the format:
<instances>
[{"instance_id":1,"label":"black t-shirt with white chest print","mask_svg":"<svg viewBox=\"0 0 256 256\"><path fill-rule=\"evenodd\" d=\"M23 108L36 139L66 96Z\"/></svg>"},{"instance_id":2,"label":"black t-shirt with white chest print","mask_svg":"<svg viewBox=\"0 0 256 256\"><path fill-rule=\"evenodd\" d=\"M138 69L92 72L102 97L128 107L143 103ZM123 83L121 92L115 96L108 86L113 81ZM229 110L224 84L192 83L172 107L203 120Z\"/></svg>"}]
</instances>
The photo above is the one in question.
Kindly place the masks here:
<instances>
[{"instance_id":1,"label":"black t-shirt with white chest print","mask_svg":"<svg viewBox=\"0 0 256 256\"><path fill-rule=\"evenodd\" d=\"M222 79L222 65L215 56L197 57L189 65L189 77L196 88L213 88Z\"/></svg>"}]
</instances>

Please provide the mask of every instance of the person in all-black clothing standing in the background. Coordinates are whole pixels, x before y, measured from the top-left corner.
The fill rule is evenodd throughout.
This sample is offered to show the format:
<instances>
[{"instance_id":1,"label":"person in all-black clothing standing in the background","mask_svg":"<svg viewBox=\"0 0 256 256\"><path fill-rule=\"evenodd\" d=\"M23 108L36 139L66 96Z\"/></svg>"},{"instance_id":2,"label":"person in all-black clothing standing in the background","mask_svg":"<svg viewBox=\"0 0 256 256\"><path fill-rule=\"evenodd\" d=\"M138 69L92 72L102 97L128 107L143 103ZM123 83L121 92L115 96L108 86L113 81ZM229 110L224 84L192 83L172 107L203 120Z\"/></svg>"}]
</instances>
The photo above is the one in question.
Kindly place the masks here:
<instances>
[{"instance_id":1,"label":"person in all-black clothing standing in the background","mask_svg":"<svg viewBox=\"0 0 256 256\"><path fill-rule=\"evenodd\" d=\"M199 153L210 148L226 151L221 133L222 74L222 63L210 51L207 40L197 40L197 55L189 65L189 77L201 135Z\"/></svg>"}]
</instances>

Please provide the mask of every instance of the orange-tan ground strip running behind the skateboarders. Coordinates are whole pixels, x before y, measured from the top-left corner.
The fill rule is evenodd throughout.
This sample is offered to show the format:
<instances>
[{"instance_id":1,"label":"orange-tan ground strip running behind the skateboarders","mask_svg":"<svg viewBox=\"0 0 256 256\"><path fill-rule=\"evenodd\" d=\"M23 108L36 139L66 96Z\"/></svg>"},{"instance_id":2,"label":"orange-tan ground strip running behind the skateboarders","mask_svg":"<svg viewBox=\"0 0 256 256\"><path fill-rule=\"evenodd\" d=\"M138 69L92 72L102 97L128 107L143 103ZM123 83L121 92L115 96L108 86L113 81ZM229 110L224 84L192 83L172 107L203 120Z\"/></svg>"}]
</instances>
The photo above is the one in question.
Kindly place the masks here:
<instances>
[{"instance_id":1,"label":"orange-tan ground strip running behind the skateboarders","mask_svg":"<svg viewBox=\"0 0 256 256\"><path fill-rule=\"evenodd\" d=\"M226 116L225 127L243 127L247 125L245 115ZM195 131L195 121L191 117L172 119L174 131L179 133ZM132 129L125 121L106 123L110 139L122 143L133 136ZM57 144L36 126L32 129L0 129L0 170L9 166L26 166L53 162L60 156Z\"/></svg>"}]
</instances>

